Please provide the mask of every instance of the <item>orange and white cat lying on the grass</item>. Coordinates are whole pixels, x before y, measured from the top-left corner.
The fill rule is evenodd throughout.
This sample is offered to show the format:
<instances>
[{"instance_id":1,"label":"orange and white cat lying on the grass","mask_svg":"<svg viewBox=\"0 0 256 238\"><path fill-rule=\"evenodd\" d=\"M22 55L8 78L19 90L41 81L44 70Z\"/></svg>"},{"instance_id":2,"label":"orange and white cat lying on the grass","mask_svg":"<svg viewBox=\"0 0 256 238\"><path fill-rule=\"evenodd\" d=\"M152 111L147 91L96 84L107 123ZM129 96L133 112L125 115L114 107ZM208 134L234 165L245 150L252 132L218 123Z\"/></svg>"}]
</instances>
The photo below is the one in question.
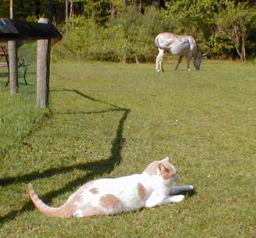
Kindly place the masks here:
<instances>
[{"instance_id":1,"label":"orange and white cat lying on the grass","mask_svg":"<svg viewBox=\"0 0 256 238\"><path fill-rule=\"evenodd\" d=\"M169 157L154 161L142 174L103 178L84 184L59 208L51 208L38 198L32 184L29 194L35 206L50 217L113 215L120 212L182 201L184 195L170 195L177 180Z\"/></svg>"}]
</instances>

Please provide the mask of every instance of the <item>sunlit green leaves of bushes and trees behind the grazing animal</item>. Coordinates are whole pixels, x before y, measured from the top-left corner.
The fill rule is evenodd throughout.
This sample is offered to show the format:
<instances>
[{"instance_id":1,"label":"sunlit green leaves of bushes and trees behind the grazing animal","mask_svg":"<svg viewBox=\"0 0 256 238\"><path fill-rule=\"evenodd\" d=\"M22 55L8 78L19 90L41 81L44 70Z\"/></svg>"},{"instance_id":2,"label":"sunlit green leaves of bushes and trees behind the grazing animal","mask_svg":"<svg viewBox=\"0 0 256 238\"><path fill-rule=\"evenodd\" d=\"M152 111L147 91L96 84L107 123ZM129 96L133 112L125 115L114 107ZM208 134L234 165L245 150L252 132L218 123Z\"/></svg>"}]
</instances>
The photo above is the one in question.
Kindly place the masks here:
<instances>
[{"instance_id":1,"label":"sunlit green leaves of bushes and trees behind the grazing animal","mask_svg":"<svg viewBox=\"0 0 256 238\"><path fill-rule=\"evenodd\" d=\"M245 4L236 6L231 0L170 1L166 3L167 10L151 6L143 14L136 4L125 8L120 1L108 4L108 1L87 1L84 13L69 19L69 29L65 29L62 42L54 47L53 58L153 62L157 54L154 38L164 31L192 35L199 50L207 51L209 57L234 58L235 49L241 46L234 42L232 19L242 19L239 29L244 32L241 33L244 48L249 47L251 58L255 55L255 14L252 7L250 11L247 6L241 7ZM106 9L99 12L99 6L102 11L106 7L122 11L110 17L103 14Z\"/></svg>"}]
</instances>

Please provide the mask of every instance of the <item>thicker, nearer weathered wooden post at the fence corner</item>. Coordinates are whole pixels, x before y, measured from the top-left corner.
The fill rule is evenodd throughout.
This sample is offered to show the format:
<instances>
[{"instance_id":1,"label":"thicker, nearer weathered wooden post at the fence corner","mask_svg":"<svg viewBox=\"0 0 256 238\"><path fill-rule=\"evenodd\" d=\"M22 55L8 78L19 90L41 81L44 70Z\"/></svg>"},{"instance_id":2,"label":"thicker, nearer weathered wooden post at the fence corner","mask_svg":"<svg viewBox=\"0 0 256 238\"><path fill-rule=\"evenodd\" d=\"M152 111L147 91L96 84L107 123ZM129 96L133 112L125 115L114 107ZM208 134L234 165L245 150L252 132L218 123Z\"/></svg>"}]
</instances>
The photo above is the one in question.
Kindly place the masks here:
<instances>
[{"instance_id":1,"label":"thicker, nearer weathered wooden post at the fence corner","mask_svg":"<svg viewBox=\"0 0 256 238\"><path fill-rule=\"evenodd\" d=\"M49 19L40 18L39 23L48 23ZM37 106L49 105L50 39L37 40Z\"/></svg>"}]
</instances>

